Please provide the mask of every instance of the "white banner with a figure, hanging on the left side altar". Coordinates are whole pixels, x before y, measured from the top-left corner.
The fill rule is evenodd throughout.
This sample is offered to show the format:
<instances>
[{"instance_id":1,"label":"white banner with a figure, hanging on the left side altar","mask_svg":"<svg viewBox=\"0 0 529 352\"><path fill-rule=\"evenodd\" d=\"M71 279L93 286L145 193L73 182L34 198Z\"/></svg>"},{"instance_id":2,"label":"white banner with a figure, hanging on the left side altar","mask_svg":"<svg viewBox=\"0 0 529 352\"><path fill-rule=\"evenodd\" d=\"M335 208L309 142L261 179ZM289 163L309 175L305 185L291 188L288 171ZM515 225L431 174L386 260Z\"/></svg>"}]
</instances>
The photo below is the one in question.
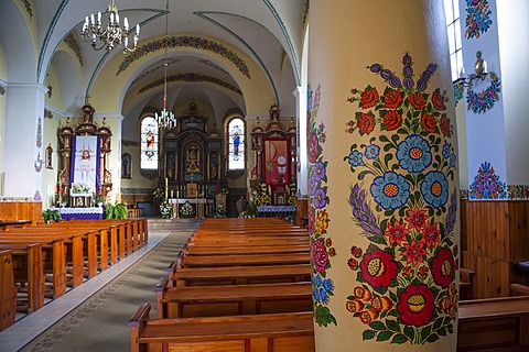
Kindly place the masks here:
<instances>
[{"instance_id":1,"label":"white banner with a figure, hanging on the left side altar","mask_svg":"<svg viewBox=\"0 0 529 352\"><path fill-rule=\"evenodd\" d=\"M74 138L71 167L72 196L93 196L99 187L99 136Z\"/></svg>"}]
</instances>

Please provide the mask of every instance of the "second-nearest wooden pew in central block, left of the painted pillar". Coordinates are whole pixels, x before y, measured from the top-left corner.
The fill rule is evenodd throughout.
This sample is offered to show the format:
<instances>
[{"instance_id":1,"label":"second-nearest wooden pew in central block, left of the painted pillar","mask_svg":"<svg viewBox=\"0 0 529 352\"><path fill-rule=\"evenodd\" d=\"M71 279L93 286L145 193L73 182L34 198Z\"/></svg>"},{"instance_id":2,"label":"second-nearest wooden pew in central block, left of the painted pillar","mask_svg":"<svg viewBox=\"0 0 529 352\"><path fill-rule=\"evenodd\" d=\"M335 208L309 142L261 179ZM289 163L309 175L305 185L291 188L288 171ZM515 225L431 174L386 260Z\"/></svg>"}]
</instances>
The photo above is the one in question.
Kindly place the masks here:
<instances>
[{"instance_id":1,"label":"second-nearest wooden pew in central block, left of the painted pillar","mask_svg":"<svg viewBox=\"0 0 529 352\"><path fill-rule=\"evenodd\" d=\"M311 283L156 286L158 318L312 311Z\"/></svg>"}]
</instances>

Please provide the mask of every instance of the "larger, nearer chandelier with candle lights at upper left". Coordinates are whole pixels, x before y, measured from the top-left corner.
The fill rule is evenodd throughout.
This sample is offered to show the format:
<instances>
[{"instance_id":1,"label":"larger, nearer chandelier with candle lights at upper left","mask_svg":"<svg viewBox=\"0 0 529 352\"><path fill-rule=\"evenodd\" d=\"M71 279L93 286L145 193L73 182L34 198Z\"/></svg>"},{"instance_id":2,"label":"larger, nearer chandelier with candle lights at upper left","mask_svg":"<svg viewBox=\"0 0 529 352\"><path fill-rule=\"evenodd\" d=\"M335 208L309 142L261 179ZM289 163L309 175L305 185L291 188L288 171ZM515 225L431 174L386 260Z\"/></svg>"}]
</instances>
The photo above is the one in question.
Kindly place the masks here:
<instances>
[{"instance_id":1,"label":"larger, nearer chandelier with candle lights at upper left","mask_svg":"<svg viewBox=\"0 0 529 352\"><path fill-rule=\"evenodd\" d=\"M119 26L119 14L118 7L110 0L107 11L108 24L104 29L101 26L101 12L97 13L97 19L94 13L85 18L85 23L83 24L83 30L80 35L85 42L91 42L91 47L96 51L100 51L106 47L107 51L111 51L115 46L121 46L123 53L133 52L138 45L138 40L140 38L140 25L136 25L134 38L132 47L129 47L129 20L123 19L123 28Z\"/></svg>"}]
</instances>

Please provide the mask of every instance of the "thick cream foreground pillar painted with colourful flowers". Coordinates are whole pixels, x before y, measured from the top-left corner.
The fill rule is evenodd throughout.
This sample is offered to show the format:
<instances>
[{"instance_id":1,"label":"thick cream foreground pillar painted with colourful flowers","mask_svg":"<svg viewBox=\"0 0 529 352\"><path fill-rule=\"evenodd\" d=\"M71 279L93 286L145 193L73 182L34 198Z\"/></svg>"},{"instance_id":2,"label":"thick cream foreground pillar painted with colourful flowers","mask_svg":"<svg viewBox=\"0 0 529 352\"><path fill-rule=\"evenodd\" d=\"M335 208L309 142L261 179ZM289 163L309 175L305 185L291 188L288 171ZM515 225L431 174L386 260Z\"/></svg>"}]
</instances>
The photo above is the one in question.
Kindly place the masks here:
<instances>
[{"instance_id":1,"label":"thick cream foreground pillar painted with colourful flowers","mask_svg":"<svg viewBox=\"0 0 529 352\"><path fill-rule=\"evenodd\" d=\"M458 182L441 0L311 2L316 351L455 351Z\"/></svg>"}]
</instances>

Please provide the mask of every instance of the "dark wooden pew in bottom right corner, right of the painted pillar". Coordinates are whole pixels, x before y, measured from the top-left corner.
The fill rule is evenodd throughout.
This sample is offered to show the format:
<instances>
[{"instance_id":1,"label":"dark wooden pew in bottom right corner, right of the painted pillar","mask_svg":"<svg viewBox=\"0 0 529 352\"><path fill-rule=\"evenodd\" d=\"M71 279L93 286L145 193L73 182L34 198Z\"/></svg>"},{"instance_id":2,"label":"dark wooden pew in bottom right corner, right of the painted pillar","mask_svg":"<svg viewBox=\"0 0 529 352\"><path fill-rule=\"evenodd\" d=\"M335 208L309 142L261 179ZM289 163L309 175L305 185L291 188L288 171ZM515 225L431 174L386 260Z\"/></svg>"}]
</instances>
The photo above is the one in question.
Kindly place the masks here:
<instances>
[{"instance_id":1,"label":"dark wooden pew in bottom right corner, right of the painted pillar","mask_svg":"<svg viewBox=\"0 0 529 352\"><path fill-rule=\"evenodd\" d=\"M529 351L529 297L460 301L457 351Z\"/></svg>"}]
</instances>

